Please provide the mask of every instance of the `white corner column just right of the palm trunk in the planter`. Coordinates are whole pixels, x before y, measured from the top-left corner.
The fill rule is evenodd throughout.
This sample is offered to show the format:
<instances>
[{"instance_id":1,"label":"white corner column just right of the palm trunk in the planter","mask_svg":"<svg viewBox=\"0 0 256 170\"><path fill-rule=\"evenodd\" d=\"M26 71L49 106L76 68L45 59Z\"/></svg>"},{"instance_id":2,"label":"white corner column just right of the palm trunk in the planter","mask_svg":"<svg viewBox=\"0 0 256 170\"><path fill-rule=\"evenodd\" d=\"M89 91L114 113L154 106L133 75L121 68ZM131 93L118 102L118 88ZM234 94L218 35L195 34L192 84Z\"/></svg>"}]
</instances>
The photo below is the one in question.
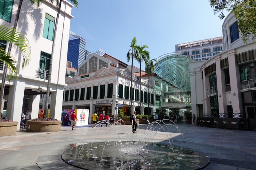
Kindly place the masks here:
<instances>
[{"instance_id":1,"label":"white corner column just right of the palm trunk in the planter","mask_svg":"<svg viewBox=\"0 0 256 170\"><path fill-rule=\"evenodd\" d=\"M56 91L51 94L50 117L57 120L61 120L62 92L63 86L57 86Z\"/></svg>"}]
</instances>

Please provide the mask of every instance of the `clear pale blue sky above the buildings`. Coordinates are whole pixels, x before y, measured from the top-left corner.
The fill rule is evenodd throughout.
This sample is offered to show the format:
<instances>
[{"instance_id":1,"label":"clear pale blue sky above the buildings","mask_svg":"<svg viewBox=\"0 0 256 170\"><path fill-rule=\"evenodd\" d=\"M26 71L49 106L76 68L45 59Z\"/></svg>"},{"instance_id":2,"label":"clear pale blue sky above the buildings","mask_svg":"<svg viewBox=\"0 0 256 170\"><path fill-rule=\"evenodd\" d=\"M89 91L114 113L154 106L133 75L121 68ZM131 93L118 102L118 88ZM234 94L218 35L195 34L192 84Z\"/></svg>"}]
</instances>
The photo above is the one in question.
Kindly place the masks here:
<instances>
[{"instance_id":1,"label":"clear pale blue sky above the buildings","mask_svg":"<svg viewBox=\"0 0 256 170\"><path fill-rule=\"evenodd\" d=\"M134 36L138 45L148 45L151 59L175 52L175 44L222 36L223 20L214 15L207 0L78 2L78 10L72 9L70 31L86 40L87 50L100 48L127 64L131 64L126 54Z\"/></svg>"}]
</instances>

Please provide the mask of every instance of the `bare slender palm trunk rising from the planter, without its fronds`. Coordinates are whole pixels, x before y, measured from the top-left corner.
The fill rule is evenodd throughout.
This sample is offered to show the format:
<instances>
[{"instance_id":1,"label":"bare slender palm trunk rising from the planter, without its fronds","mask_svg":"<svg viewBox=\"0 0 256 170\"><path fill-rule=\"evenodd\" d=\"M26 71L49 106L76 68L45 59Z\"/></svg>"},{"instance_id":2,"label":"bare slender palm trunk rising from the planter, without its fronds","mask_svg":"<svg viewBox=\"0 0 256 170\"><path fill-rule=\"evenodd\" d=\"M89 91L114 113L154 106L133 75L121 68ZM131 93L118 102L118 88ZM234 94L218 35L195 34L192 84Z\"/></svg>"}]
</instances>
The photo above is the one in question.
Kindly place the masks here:
<instances>
[{"instance_id":1,"label":"bare slender palm trunk rising from the planter, without its fronds","mask_svg":"<svg viewBox=\"0 0 256 170\"><path fill-rule=\"evenodd\" d=\"M50 61L50 68L49 68L49 77L48 77L48 83L47 83L47 91L46 91L46 101L44 106L44 115L46 118L48 118L48 104L49 104L49 97L50 97L50 85L51 85L51 77L52 77L52 59L54 54L54 47L55 47L55 41L56 41L56 33L57 33L57 26L60 16L60 7L61 7L62 0L59 2L58 6L58 13L56 17L56 22L54 26L54 32L53 32L53 39L52 39L52 54L51 54L51 61Z\"/></svg>"}]
</instances>

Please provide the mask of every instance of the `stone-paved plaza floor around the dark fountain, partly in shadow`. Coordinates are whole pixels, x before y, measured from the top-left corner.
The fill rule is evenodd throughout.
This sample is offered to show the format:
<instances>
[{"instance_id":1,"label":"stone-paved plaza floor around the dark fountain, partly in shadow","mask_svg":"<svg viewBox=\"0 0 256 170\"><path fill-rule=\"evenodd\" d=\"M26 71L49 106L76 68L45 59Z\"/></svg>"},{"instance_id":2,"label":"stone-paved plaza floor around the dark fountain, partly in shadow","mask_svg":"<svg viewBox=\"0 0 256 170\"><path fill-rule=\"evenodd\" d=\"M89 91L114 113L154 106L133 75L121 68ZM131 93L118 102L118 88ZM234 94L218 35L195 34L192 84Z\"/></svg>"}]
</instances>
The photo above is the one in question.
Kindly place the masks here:
<instances>
[{"instance_id":1,"label":"stone-paved plaza floor around the dark fountain, partly in shadow","mask_svg":"<svg viewBox=\"0 0 256 170\"><path fill-rule=\"evenodd\" d=\"M60 132L51 133L28 133L20 130L17 131L17 135L0 137L0 170L73 170L78 168L61 160L60 154L74 144L106 140L149 140L169 143L167 138L172 137L172 144L188 148L183 136L192 150L211 157L212 163L205 168L207 170L256 169L255 131L197 127L186 123L177 125L182 134L172 125L162 128L156 124L150 127L154 130L153 133L145 133L148 126L140 125L137 134L132 134L131 125L103 125L94 129L91 126L83 126L76 127L76 130L71 130L70 126L63 126Z\"/></svg>"}]
</instances>

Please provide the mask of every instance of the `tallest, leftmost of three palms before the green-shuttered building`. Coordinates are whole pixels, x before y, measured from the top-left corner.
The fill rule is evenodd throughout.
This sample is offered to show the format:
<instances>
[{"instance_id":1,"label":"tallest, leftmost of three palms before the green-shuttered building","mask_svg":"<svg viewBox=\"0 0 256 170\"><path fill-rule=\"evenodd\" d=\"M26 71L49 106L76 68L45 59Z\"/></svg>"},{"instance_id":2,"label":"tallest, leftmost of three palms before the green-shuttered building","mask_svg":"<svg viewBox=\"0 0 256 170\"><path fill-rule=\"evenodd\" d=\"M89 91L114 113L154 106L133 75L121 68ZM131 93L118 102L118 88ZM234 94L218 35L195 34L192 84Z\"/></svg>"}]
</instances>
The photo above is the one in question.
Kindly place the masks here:
<instances>
[{"instance_id":1,"label":"tallest, leftmost of three palms before the green-shuttered building","mask_svg":"<svg viewBox=\"0 0 256 170\"><path fill-rule=\"evenodd\" d=\"M130 61L130 55L132 55L132 68L133 68L133 58L135 60L139 61L139 50L138 49L140 48L140 46L136 45L136 43L137 43L136 37L133 37L133 39L131 41L131 45L130 45L131 49L129 49L129 51L127 53L127 56L126 56L127 61L129 62ZM131 50L132 50L132 53L130 53ZM131 72L132 72L132 70L131 70ZM132 115L132 78L133 78L133 76L131 76L131 91L130 91L131 92L131 94L130 94L130 96L131 96L131 111L130 111L130 114L131 115Z\"/></svg>"}]
</instances>

